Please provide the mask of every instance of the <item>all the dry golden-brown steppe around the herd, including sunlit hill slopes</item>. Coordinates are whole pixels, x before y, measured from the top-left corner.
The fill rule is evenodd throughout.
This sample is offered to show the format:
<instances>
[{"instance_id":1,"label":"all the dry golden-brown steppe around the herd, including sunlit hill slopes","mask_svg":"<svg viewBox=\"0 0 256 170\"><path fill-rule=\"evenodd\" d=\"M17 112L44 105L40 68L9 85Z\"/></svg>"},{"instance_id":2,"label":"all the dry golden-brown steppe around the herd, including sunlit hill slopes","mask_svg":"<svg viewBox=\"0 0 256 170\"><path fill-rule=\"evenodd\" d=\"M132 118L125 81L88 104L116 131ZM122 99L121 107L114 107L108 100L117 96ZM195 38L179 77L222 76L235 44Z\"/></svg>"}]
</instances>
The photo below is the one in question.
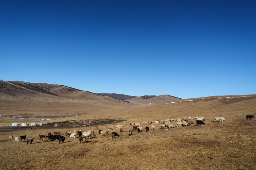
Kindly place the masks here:
<instances>
[{"instance_id":1,"label":"all the dry golden-brown steppe around the herd, including sunlit hill slopes","mask_svg":"<svg viewBox=\"0 0 256 170\"><path fill-rule=\"evenodd\" d=\"M256 120L246 120L246 115L256 113L256 95L209 96L202 98L166 101L161 104L127 103L107 96L87 92L72 92L73 98L58 93L50 94L12 89L6 84L0 92L0 169L237 169L256 167ZM57 86L56 86L57 88ZM15 91L16 90L16 91ZM54 91L55 90L55 91ZM12 92L12 93L11 93ZM14 93L15 92L15 93ZM21 93L22 92L22 93ZM83 97L81 97L83 96ZM34 115L34 117L33 117ZM20 117L19 117L20 116ZM171 130L151 130L149 121L203 116L205 126L175 126ZM223 116L224 122L215 122ZM48 121L38 120L47 117ZM28 119L29 118L29 119ZM126 119L110 125L105 136L98 129L109 125L88 127L54 127L55 122L93 119ZM43 122L38 127L10 127L11 123ZM130 123L139 122L143 131L133 131ZM143 122L143 123L142 123ZM123 132L116 125L123 125ZM149 132L145 127L149 127ZM42 142L39 134L94 129L96 134L88 143L79 138L65 137L65 142ZM120 136L111 137L112 132ZM9 135L14 134L9 140ZM32 144L14 138L26 135Z\"/></svg>"}]
</instances>

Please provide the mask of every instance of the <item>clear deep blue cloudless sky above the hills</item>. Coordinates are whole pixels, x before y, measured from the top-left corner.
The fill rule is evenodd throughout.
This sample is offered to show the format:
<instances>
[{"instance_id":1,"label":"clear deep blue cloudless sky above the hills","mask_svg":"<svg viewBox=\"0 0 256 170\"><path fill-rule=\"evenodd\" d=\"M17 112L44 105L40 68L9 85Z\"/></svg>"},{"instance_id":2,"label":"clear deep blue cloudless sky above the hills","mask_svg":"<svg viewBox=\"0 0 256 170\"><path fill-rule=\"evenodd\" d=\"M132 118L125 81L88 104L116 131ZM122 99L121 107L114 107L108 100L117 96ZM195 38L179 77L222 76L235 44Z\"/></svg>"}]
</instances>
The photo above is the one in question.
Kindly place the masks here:
<instances>
[{"instance_id":1,"label":"clear deep blue cloudless sky above the hills","mask_svg":"<svg viewBox=\"0 0 256 170\"><path fill-rule=\"evenodd\" d=\"M0 1L0 79L94 93L255 94L256 1Z\"/></svg>"}]
</instances>

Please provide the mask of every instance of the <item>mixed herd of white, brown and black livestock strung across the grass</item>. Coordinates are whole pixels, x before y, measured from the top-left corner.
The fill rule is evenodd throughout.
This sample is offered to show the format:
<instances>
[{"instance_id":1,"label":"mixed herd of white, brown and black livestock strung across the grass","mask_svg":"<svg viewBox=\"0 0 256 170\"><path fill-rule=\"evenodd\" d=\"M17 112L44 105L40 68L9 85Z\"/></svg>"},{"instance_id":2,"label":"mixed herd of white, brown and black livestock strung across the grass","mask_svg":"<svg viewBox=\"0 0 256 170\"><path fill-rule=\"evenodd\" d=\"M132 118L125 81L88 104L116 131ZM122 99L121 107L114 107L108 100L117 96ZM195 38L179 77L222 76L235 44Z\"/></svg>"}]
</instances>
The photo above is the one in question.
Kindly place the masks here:
<instances>
[{"instance_id":1,"label":"mixed herd of white, brown and black livestock strung across the grass","mask_svg":"<svg viewBox=\"0 0 256 170\"><path fill-rule=\"evenodd\" d=\"M225 118L224 117L215 117L216 122L224 122ZM171 129L174 128L174 125L172 123L176 123L177 127L181 126L190 126L192 124L197 124L197 125L204 125L204 117L183 117L183 118L178 118L178 119L165 119L165 120L155 120L155 121L149 121L149 122L142 122L142 124L150 124L151 131L155 130L155 125L159 125L160 123L160 129ZM126 124L127 125L127 124ZM128 136L132 135L132 132L134 130L141 132L142 127L140 126L140 123L130 123L131 126L133 126L132 130L128 131ZM120 132L123 132L122 129L123 125L119 124L116 125L117 129L120 129ZM97 127L96 127L97 128ZM98 129L98 133L101 134L101 136L105 136L110 130L114 129L114 125L108 126L107 130L100 130ZM146 131L149 131L149 127L145 127ZM14 134L11 134L9 136L9 140L12 140ZM73 130L73 131L67 131L64 133L65 137L70 137L70 139L75 139L76 136L79 137L79 142L87 143L87 140L90 139L90 137L93 137L95 135L95 130L90 129L89 131L83 132L82 130ZM22 139L26 139L26 135L15 137L14 141L15 143L19 143ZM48 142L48 141L55 141L59 140L59 144L64 143L65 137L61 136L60 132L53 132L53 135L49 132L48 136L45 135L40 135L38 136L38 139L42 140L43 142ZM112 138L119 137L119 134L117 132L112 132L111 134ZM88 138L88 139L87 139ZM27 144L32 144L33 139L27 139Z\"/></svg>"}]
</instances>

